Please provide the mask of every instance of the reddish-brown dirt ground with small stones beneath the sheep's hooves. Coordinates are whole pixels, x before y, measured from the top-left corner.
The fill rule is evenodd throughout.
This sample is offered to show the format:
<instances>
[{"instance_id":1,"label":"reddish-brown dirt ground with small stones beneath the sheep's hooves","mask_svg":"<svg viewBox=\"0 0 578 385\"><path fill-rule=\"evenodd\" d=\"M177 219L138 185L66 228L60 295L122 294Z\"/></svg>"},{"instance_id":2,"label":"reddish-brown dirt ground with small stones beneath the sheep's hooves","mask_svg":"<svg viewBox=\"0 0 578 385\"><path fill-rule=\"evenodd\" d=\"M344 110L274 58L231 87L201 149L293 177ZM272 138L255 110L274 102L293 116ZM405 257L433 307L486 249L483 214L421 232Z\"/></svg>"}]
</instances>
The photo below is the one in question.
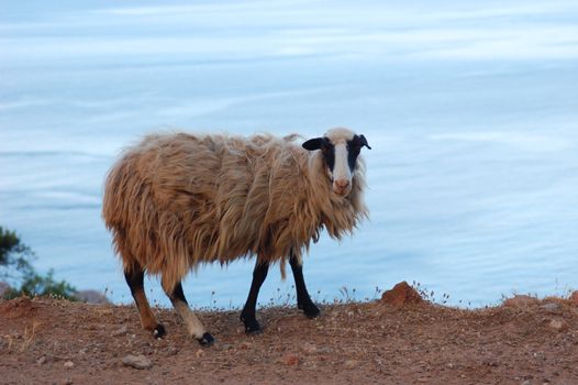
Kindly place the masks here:
<instances>
[{"instance_id":1,"label":"reddish-brown dirt ground with small stones beneath the sheep's hooves","mask_svg":"<svg viewBox=\"0 0 578 385\"><path fill-rule=\"evenodd\" d=\"M386 298L314 320L278 307L259 311L259 336L237 312L204 311L216 343L201 348L171 309L156 310L168 336L154 340L132 306L21 297L0 301L0 384L578 384L577 302ZM151 367L125 365L129 354Z\"/></svg>"}]
</instances>

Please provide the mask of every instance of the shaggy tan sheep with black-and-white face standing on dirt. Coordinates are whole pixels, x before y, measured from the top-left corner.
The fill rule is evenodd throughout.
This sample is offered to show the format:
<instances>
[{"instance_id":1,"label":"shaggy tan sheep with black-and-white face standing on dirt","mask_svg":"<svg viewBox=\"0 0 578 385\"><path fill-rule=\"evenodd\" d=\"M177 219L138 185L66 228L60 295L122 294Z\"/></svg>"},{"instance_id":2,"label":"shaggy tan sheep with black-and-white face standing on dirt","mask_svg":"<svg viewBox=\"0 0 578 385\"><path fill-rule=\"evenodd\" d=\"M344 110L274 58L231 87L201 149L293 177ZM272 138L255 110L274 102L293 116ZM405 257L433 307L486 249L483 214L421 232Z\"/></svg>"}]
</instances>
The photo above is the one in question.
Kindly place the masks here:
<instances>
[{"instance_id":1,"label":"shaggy tan sheep with black-and-white face standing on dirt","mask_svg":"<svg viewBox=\"0 0 578 385\"><path fill-rule=\"evenodd\" d=\"M247 333L262 331L255 307L269 264L287 260L298 308L314 318L302 273L302 253L324 229L340 240L368 217L364 202L364 135L332 129L296 144L297 134L251 138L151 134L125 150L104 184L102 217L112 233L145 330L166 331L144 292L145 272L160 284L201 344L213 343L187 304L181 279L201 264L256 256L241 320Z\"/></svg>"}]
</instances>

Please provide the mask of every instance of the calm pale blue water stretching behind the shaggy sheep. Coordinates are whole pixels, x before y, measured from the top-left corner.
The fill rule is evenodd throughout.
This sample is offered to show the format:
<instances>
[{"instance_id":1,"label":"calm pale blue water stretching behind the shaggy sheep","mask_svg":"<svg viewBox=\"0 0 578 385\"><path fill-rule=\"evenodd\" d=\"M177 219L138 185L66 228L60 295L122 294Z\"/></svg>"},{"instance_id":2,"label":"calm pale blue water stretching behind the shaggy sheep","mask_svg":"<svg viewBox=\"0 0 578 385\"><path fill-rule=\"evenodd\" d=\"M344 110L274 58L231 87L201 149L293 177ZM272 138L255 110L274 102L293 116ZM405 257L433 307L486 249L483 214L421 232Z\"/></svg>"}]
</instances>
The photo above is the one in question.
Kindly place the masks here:
<instances>
[{"instance_id":1,"label":"calm pale blue water stretching behind the shaggy sheep","mask_svg":"<svg viewBox=\"0 0 578 385\"><path fill-rule=\"evenodd\" d=\"M483 306L578 287L574 1L0 2L0 226L130 301L100 218L120 150L171 128L364 133L371 220L305 260L318 300L407 279ZM252 263L207 266L240 306ZM291 293L269 275L262 302ZM153 279L151 297L168 304ZM214 292L214 294L213 294Z\"/></svg>"}]
</instances>

